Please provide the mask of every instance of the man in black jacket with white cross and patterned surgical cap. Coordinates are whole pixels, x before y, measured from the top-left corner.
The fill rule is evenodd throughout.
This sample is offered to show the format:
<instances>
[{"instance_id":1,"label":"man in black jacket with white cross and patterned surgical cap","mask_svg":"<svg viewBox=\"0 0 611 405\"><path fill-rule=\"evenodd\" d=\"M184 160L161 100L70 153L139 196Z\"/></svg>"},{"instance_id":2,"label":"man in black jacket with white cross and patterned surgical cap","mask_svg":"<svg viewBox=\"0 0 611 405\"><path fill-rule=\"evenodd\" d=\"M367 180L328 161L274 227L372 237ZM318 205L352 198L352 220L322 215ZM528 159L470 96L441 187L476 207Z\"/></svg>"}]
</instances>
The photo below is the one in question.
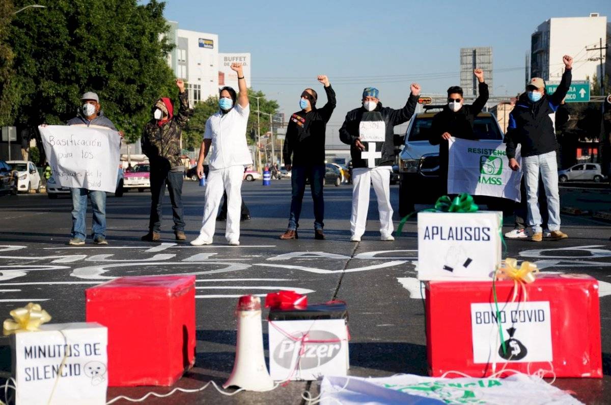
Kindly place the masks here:
<instances>
[{"instance_id":1,"label":"man in black jacket with white cross and patterned surgical cap","mask_svg":"<svg viewBox=\"0 0 611 405\"><path fill-rule=\"evenodd\" d=\"M392 206L390 205L390 172L395 161L395 125L409 121L414 115L419 84L412 83L411 95L401 109L383 107L378 89L363 90L363 105L346 114L340 128L340 140L350 145L353 170L351 241L360 242L365 233L371 183L378 198L382 241L393 241ZM365 145L366 144L366 145Z\"/></svg>"}]
</instances>

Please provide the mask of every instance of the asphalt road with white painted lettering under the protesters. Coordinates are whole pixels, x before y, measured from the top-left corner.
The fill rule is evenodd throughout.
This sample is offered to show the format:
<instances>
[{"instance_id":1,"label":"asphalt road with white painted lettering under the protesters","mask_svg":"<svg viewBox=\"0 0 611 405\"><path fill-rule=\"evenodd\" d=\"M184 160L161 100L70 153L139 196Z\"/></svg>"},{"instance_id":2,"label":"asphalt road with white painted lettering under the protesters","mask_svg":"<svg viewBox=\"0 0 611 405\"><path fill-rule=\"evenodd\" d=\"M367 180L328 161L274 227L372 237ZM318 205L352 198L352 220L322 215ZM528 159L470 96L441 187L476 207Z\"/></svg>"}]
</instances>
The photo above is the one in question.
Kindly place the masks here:
<instances>
[{"instance_id":1,"label":"asphalt road with white painted lettering under the protesters","mask_svg":"<svg viewBox=\"0 0 611 405\"><path fill-rule=\"evenodd\" d=\"M562 193L563 200L582 205L591 200L596 207L608 207L611 202L606 189L587 192L563 189ZM169 201L164 210L162 243L141 242L140 236L148 224L148 192L109 197L109 246L94 246L88 240L86 246L76 248L67 246L70 199L49 200L45 194L0 197L0 314L8 317L11 309L34 301L53 315L54 323L84 321L84 290L103 281L102 277L196 274L196 367L178 382L179 387L193 389L210 380L222 384L233 366L236 297L280 289L307 293L309 302L341 299L348 303L351 375L425 375L425 318L414 265L417 260L415 220L408 222L397 241L379 241L377 206L372 196L367 233L362 242L351 243L351 187L327 186L324 195L327 240L313 238L312 203L306 191L300 238L281 241L278 236L287 225L290 182L273 181L268 187L259 181L244 183L243 196L251 209L252 220L242 224L239 247L227 245L221 223L218 223L215 244L211 246L176 244ZM203 188L186 181L183 197L186 232L191 240L199 230ZM397 186L392 186L395 208L397 198ZM508 256L540 261L544 271L583 272L601 282L604 379L558 379L554 384L573 391L584 403L609 403L611 227L585 216L563 216L562 221L562 229L569 234L569 239L539 244L508 241ZM506 218L505 231L511 224L513 220ZM599 250L593 254L591 249ZM208 254L207 259L194 257L202 252ZM263 323L265 345L267 328ZM8 338L0 338L0 373L4 378L10 374ZM150 390L170 391L162 387L110 388L108 399L117 395L139 396ZM184 404L207 400L218 404L300 404L305 390L317 395L318 382L291 382L272 392L241 392L232 397L222 396L209 387L199 393L176 393L167 399L152 398L145 403Z\"/></svg>"}]
</instances>

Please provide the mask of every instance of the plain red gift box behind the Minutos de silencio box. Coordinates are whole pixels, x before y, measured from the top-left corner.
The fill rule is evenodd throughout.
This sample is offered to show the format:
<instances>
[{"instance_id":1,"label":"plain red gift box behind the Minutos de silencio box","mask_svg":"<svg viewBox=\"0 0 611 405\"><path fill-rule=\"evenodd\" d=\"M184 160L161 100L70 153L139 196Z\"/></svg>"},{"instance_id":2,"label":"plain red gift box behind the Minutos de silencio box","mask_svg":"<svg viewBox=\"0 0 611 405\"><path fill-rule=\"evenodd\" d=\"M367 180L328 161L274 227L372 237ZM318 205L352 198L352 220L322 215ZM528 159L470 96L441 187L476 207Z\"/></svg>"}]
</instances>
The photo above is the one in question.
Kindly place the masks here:
<instances>
[{"instance_id":1,"label":"plain red gift box behind the Minutos de silencio box","mask_svg":"<svg viewBox=\"0 0 611 405\"><path fill-rule=\"evenodd\" d=\"M195 276L120 277L85 291L108 327L108 385L174 384L195 364Z\"/></svg>"}]
</instances>

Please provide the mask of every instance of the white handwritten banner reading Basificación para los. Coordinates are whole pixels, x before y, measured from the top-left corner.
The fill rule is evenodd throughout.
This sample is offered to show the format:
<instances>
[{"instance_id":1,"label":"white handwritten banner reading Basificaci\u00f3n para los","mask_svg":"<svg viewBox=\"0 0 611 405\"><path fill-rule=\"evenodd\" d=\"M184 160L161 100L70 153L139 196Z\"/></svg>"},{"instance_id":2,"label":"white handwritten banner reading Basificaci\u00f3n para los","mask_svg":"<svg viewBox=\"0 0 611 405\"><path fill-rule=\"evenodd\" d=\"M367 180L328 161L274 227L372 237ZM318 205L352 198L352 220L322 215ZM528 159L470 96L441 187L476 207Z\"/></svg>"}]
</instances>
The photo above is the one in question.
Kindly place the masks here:
<instances>
[{"instance_id":1,"label":"white handwritten banner reading Basificaci\u00f3n para los","mask_svg":"<svg viewBox=\"0 0 611 405\"><path fill-rule=\"evenodd\" d=\"M114 192L121 138L103 126L38 126L53 178L62 187Z\"/></svg>"}]
</instances>

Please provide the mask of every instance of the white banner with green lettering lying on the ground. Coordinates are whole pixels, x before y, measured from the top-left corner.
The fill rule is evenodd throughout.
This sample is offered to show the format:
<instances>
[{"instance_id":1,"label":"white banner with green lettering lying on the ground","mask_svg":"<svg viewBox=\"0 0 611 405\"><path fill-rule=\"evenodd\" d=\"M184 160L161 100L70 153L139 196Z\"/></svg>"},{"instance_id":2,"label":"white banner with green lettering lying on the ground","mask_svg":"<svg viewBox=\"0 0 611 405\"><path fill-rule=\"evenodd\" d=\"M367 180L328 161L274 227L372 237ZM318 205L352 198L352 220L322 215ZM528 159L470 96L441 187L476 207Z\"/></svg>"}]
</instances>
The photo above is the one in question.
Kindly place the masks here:
<instances>
[{"instance_id":1,"label":"white banner with green lettering lying on the ground","mask_svg":"<svg viewBox=\"0 0 611 405\"><path fill-rule=\"evenodd\" d=\"M525 374L507 378L433 378L401 374L388 378L325 376L321 405L578 405L568 393Z\"/></svg>"}]
</instances>

